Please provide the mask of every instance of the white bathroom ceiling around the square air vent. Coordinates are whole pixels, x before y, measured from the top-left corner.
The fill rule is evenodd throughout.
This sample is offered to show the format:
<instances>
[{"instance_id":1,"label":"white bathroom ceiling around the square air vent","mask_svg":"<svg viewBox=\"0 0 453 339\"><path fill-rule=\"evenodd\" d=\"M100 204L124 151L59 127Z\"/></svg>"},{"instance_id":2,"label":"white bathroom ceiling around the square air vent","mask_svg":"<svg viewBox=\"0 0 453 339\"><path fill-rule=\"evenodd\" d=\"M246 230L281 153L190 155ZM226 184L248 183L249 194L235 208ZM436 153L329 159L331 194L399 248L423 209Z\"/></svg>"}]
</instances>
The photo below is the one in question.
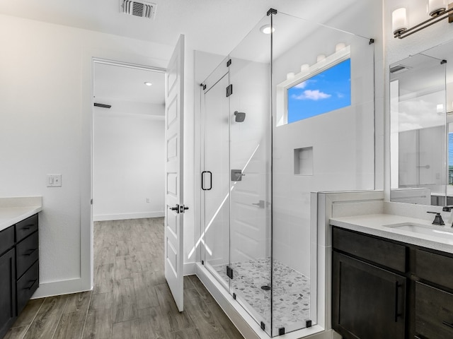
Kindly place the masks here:
<instances>
[{"instance_id":1,"label":"white bathroom ceiling around the square air vent","mask_svg":"<svg viewBox=\"0 0 453 339\"><path fill-rule=\"evenodd\" d=\"M154 20L120 13L120 0L0 0L0 13L228 54L269 8L326 23L357 0L151 0Z\"/></svg>"}]
</instances>

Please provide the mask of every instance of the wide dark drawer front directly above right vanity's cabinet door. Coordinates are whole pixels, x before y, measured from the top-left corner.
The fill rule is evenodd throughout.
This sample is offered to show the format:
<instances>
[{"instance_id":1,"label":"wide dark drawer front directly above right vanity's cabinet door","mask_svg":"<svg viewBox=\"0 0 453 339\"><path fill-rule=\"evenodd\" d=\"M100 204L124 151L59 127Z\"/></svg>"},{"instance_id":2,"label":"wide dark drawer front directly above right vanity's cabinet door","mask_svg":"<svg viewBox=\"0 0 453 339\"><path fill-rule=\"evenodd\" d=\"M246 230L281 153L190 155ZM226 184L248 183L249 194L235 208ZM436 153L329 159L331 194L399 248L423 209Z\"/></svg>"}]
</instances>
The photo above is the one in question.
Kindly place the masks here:
<instances>
[{"instance_id":1,"label":"wide dark drawer front directly above right vanity's cabinet door","mask_svg":"<svg viewBox=\"0 0 453 339\"><path fill-rule=\"evenodd\" d=\"M334 249L406 272L406 246L336 227L332 229L332 244Z\"/></svg>"}]
</instances>

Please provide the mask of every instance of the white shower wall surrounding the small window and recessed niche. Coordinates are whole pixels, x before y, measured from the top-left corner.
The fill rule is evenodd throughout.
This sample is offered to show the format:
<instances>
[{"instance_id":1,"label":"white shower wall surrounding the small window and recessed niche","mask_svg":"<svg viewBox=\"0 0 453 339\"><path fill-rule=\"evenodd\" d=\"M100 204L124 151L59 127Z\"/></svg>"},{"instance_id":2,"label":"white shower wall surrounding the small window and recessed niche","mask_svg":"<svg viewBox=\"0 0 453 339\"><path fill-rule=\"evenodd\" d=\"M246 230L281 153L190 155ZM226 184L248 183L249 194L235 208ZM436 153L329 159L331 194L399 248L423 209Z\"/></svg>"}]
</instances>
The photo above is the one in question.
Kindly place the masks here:
<instances>
[{"instance_id":1,"label":"white shower wall surrounding the small window and recessed niche","mask_svg":"<svg viewBox=\"0 0 453 339\"><path fill-rule=\"evenodd\" d=\"M351 105L274 129L273 254L307 277L316 262L310 252L316 239L310 193L374 189L374 48L363 37L318 28L274 63L278 85L301 64L316 64L318 54L333 54L338 42L350 46ZM285 102L275 102L278 115ZM311 159L302 160L310 162L311 173L294 170L294 151L300 148L312 150Z\"/></svg>"}]
</instances>

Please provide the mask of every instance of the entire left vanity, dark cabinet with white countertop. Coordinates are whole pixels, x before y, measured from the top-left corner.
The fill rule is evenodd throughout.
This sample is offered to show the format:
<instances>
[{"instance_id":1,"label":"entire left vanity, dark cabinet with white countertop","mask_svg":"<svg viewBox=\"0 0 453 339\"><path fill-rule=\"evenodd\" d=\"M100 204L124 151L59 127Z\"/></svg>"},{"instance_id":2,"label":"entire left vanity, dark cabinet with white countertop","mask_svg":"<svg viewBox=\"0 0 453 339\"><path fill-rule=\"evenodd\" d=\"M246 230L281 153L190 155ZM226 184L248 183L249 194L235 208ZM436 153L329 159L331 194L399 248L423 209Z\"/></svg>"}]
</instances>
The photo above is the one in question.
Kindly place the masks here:
<instances>
[{"instance_id":1,"label":"entire left vanity, dark cabinet with white countertop","mask_svg":"<svg viewBox=\"0 0 453 339\"><path fill-rule=\"evenodd\" d=\"M41 197L0 198L0 338L39 285Z\"/></svg>"}]
</instances>

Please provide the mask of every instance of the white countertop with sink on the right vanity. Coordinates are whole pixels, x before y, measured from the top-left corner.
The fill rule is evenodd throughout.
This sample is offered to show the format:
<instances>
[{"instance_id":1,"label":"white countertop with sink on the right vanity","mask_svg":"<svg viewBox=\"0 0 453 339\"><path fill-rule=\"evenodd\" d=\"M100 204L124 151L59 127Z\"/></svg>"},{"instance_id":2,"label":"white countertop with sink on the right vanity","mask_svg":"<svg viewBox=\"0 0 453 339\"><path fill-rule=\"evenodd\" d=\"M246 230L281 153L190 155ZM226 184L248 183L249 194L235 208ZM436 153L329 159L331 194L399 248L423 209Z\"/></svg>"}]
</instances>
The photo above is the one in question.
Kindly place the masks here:
<instances>
[{"instance_id":1,"label":"white countertop with sink on the right vanity","mask_svg":"<svg viewBox=\"0 0 453 339\"><path fill-rule=\"evenodd\" d=\"M432 215L432 218L434 220L434 215ZM423 225L425 227L432 228L433 230L440 230L442 232L453 232L453 228L449 227L450 225L432 225L431 222L427 220L408 218L401 215L369 214L331 218L330 220L331 225L342 227L347 230L372 234L377 237L393 239L398 242L406 242L408 244L423 246L428 249L437 249L438 251L453 254L453 236L450 237L449 234L441 238L411 231L398 230L393 227L386 227L386 225L403 224L406 222Z\"/></svg>"}]
</instances>

